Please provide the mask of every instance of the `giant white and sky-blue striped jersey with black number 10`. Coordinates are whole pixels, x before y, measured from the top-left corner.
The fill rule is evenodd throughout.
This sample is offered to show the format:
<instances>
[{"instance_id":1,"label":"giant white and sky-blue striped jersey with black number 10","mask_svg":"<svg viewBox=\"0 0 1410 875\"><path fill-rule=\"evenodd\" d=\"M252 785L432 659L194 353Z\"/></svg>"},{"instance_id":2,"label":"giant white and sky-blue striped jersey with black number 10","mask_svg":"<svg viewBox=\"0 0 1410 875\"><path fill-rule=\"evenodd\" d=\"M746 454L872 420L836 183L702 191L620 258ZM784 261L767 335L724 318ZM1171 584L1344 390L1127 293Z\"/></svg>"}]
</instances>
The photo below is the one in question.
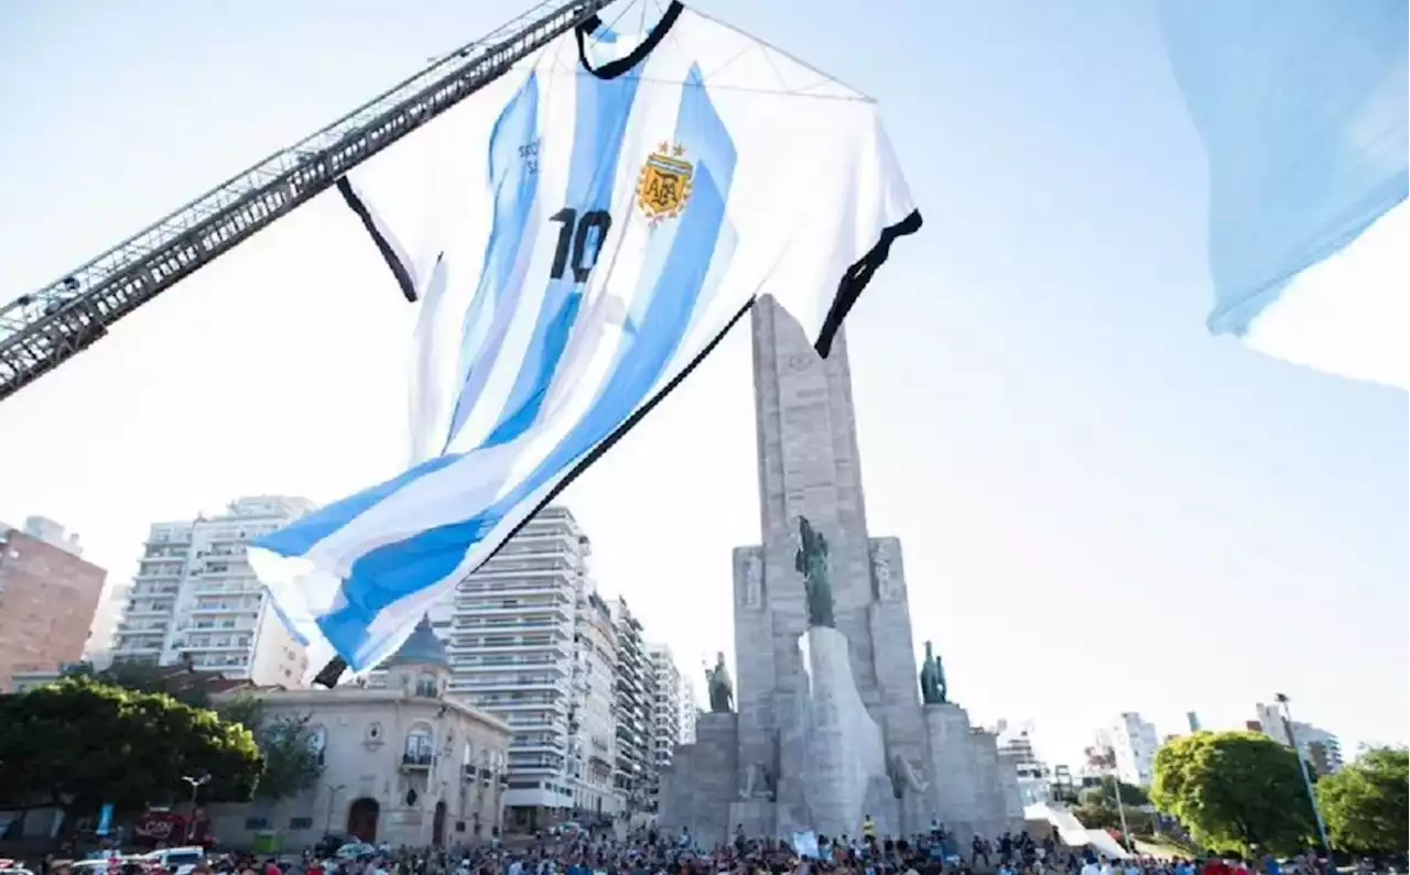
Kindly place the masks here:
<instances>
[{"instance_id":1,"label":"giant white and sky-blue striped jersey with black number 10","mask_svg":"<svg viewBox=\"0 0 1410 875\"><path fill-rule=\"evenodd\" d=\"M250 561L374 668L763 294L826 355L921 225L876 104L673 3L592 20L340 183L420 307L410 469Z\"/></svg>"}]
</instances>

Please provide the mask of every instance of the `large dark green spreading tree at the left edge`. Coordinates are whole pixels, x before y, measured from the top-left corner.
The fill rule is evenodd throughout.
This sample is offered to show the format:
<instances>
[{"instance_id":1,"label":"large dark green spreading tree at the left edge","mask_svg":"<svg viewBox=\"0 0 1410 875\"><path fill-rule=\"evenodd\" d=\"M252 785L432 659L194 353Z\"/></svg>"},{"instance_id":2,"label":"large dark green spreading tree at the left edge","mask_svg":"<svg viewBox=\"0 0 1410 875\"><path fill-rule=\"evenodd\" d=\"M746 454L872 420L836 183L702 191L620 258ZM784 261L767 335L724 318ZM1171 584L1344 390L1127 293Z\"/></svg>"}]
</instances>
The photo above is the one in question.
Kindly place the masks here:
<instances>
[{"instance_id":1,"label":"large dark green spreading tree at the left edge","mask_svg":"<svg viewBox=\"0 0 1410 875\"><path fill-rule=\"evenodd\" d=\"M68 678L0 696L0 807L120 813L189 798L244 802L264 769L254 736L162 693Z\"/></svg>"}]
</instances>

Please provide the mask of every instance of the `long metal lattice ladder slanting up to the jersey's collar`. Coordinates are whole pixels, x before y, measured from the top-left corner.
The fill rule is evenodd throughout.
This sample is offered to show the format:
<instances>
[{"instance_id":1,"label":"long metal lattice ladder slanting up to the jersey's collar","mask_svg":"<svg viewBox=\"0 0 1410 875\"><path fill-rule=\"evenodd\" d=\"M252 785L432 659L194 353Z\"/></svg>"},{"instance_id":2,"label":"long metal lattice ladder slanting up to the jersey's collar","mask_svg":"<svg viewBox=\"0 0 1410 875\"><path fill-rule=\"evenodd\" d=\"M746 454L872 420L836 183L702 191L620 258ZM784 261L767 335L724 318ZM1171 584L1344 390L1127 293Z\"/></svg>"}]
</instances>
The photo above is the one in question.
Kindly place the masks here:
<instances>
[{"instance_id":1,"label":"long metal lattice ladder slanting up to the jersey's collar","mask_svg":"<svg viewBox=\"0 0 1410 875\"><path fill-rule=\"evenodd\" d=\"M615 0L540 0L82 268L0 307L0 400Z\"/></svg>"}]
</instances>

